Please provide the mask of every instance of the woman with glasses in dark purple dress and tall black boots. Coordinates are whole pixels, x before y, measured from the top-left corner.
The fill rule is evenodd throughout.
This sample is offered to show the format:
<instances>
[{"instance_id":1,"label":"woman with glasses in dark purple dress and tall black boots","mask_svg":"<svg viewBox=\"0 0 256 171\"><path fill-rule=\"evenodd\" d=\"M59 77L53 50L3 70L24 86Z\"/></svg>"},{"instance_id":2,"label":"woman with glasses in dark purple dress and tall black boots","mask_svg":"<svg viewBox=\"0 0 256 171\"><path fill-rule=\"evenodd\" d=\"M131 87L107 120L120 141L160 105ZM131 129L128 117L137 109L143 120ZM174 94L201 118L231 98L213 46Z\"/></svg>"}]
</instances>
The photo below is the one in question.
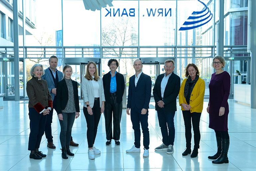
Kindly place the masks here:
<instances>
[{"instance_id":1,"label":"woman with glasses in dark purple dress and tall black boots","mask_svg":"<svg viewBox=\"0 0 256 171\"><path fill-rule=\"evenodd\" d=\"M212 67L216 70L211 75L209 84L209 103L207 112L209 113L209 128L214 129L217 140L217 153L208 156L209 159L215 159L212 163L228 163L229 135L227 128L228 118L228 96L230 92L230 75L223 71L226 61L222 56L213 58Z\"/></svg>"}]
</instances>

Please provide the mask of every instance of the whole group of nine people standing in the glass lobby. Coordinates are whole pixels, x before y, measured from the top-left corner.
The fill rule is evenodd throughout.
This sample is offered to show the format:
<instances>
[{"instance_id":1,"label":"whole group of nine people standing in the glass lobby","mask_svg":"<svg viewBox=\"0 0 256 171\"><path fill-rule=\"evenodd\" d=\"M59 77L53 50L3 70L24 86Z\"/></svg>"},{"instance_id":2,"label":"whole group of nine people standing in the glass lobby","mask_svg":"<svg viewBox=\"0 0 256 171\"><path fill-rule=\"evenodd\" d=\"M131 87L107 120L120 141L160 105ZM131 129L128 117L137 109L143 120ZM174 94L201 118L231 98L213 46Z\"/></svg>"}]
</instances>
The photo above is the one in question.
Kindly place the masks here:
<instances>
[{"instance_id":1,"label":"whole group of nine people standing in the glass lobby","mask_svg":"<svg viewBox=\"0 0 256 171\"><path fill-rule=\"evenodd\" d=\"M47 70L51 71L52 78L55 78L53 80L57 89L48 89L49 83L46 81L47 79L44 80L44 77L42 77L44 70L41 64L35 64L31 68L32 79L27 83L31 129L29 150L31 150L30 158L33 159L46 157L45 154L39 151L39 146L45 131L46 120L49 114L53 113L53 108L57 111L61 125L62 158L67 159L67 155L74 155L69 150L69 144L74 119L79 117L80 111L77 82L71 80L72 68L69 65L63 68L63 79L63 74L56 74L54 76L51 68L52 58L57 59L58 63L58 58L51 56L49 59L50 67L45 72ZM103 112L105 117L106 145L110 145L112 139L114 139L115 145L120 145L120 121L125 82L123 75L116 71L119 66L116 59L110 59L108 66L110 71L101 78L98 75L96 64L90 61L86 67L86 74L82 78L81 91L84 102L83 113L87 123L86 135L89 159L94 159L95 154L100 154L100 150L94 146L94 141ZM224 66L225 60L223 57L215 56L213 58L212 67L216 72L212 74L209 84L210 96L206 109L209 113L209 128L215 130L217 140L217 153L213 156L208 156L208 158L214 159L212 163L216 164L228 163L229 135L227 118L229 110L227 100L230 92L230 75L223 71ZM151 98L151 77L142 72L143 64L141 60L135 60L133 67L135 75L129 79L126 113L131 117L135 142L132 148L126 150L126 152L140 152L141 127L144 146L143 157L148 157L150 143L148 109ZM175 62L172 59L166 60L164 65L165 73L157 77L153 88L155 110L157 111L163 137L163 143L156 147L155 150L166 150L167 154L174 152L174 116L177 111L176 99L179 95L186 137L186 149L182 155L191 154L193 158L198 155L200 142L199 123L203 110L205 84L204 80L199 78L199 71L195 64L191 63L186 67L185 76L187 78L183 80L182 84L180 77L173 72L174 68ZM56 95L56 97L51 96L50 92L54 96ZM193 150L191 150L192 127L194 131Z\"/></svg>"}]
</instances>

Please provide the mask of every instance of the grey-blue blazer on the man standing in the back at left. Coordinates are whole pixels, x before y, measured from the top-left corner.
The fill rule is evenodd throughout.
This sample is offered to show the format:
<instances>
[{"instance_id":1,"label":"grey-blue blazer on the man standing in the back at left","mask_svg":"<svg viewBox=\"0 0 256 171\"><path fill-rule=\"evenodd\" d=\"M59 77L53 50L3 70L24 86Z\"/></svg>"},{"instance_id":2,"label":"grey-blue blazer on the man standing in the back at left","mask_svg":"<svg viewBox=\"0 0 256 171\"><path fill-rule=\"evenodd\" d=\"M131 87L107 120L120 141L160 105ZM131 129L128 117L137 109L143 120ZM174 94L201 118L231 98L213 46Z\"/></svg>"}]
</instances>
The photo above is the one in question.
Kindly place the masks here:
<instances>
[{"instance_id":1,"label":"grey-blue blazer on the man standing in the back at left","mask_svg":"<svg viewBox=\"0 0 256 171\"><path fill-rule=\"evenodd\" d=\"M59 81L61 81L63 79L63 73L57 70L57 74ZM55 88L55 84L49 68L45 69L45 74L42 76L42 79L47 81L49 92L54 100L55 94L52 93L52 89Z\"/></svg>"}]
</instances>

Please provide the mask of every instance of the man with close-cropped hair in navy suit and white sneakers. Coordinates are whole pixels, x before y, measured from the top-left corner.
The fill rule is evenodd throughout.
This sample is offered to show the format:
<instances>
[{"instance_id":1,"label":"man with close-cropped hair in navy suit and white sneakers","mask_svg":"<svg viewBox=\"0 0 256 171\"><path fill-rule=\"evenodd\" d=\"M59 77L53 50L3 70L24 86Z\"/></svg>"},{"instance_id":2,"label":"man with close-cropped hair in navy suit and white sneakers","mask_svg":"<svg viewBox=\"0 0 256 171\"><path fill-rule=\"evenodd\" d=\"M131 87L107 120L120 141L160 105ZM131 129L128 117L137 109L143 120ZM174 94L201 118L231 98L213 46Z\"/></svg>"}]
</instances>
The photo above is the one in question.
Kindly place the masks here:
<instances>
[{"instance_id":1,"label":"man with close-cropped hair in navy suit and white sneakers","mask_svg":"<svg viewBox=\"0 0 256 171\"><path fill-rule=\"evenodd\" d=\"M130 115L132 128L134 130L135 142L127 153L140 152L140 124L143 133L144 153L143 157L149 156L149 129L148 129L148 109L151 98L151 77L142 72L142 62L137 59L133 63L135 75L129 79L127 115Z\"/></svg>"}]
</instances>

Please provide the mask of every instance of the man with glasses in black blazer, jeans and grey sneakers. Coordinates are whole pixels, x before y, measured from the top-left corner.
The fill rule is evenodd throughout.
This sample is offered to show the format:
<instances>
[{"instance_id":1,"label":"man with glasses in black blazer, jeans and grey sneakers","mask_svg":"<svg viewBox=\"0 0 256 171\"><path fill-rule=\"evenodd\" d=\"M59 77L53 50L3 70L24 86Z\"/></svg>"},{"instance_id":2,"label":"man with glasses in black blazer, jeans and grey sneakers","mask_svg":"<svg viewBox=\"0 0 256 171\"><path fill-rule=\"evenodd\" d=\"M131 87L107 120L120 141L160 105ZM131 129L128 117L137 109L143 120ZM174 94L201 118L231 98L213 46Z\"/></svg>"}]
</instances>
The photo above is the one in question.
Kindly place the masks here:
<instances>
[{"instance_id":1,"label":"man with glasses in black blazer, jeans and grey sneakers","mask_svg":"<svg viewBox=\"0 0 256 171\"><path fill-rule=\"evenodd\" d=\"M167 150L167 154L174 152L174 115L175 111L177 111L176 98L179 95L181 87L181 78L173 73L174 68L174 60L166 60L164 66L165 73L157 77L153 88L153 95L156 102L155 109L163 136L163 143L159 147L156 147L155 150Z\"/></svg>"}]
</instances>

